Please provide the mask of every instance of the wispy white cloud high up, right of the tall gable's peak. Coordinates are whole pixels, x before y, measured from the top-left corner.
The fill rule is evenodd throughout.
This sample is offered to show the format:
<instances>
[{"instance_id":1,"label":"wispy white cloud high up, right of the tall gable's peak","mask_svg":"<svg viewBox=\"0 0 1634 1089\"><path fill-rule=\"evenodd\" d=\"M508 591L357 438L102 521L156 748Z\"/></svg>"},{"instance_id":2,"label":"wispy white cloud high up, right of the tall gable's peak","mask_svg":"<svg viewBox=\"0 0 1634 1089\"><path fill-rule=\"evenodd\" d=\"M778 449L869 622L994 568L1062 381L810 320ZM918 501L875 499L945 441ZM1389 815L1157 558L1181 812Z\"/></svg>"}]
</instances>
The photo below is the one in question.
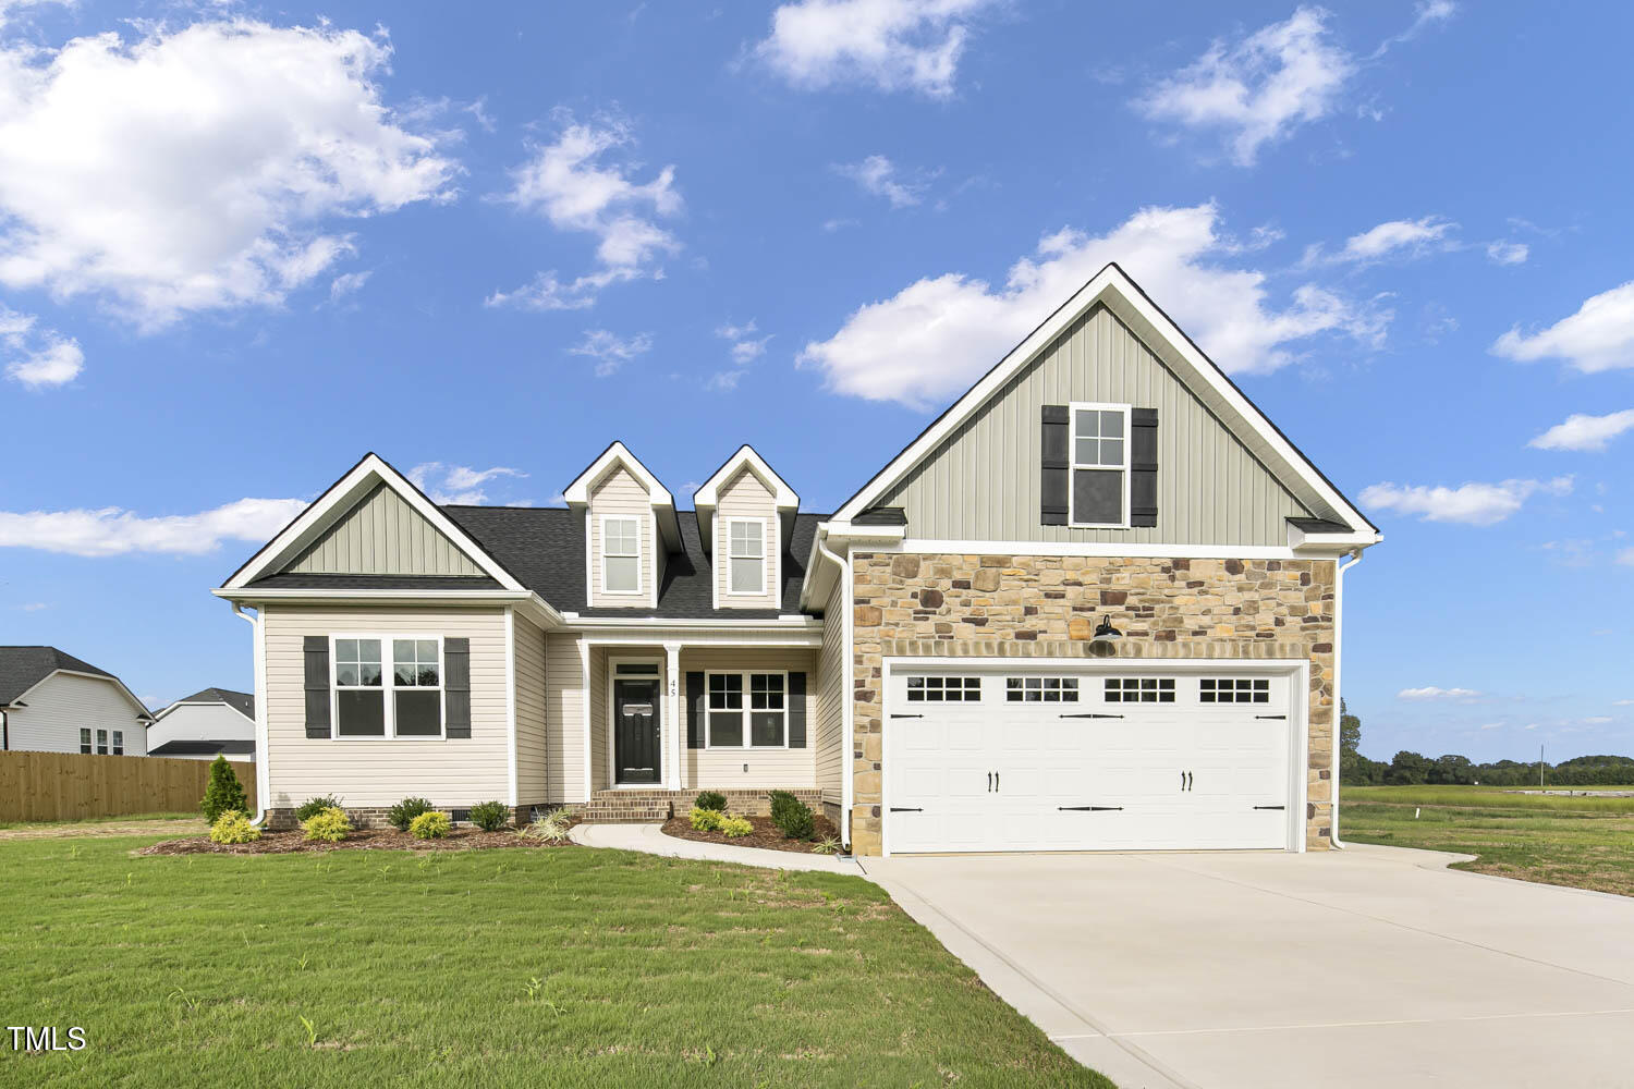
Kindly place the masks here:
<instances>
[{"instance_id":1,"label":"wispy white cloud high up, right of the tall gable's peak","mask_svg":"<svg viewBox=\"0 0 1634 1089\"><path fill-rule=\"evenodd\" d=\"M1252 167L1263 145L1325 118L1355 73L1327 18L1322 8L1297 8L1240 42L1216 41L1134 104L1154 121L1224 131L1232 162Z\"/></svg>"}]
</instances>

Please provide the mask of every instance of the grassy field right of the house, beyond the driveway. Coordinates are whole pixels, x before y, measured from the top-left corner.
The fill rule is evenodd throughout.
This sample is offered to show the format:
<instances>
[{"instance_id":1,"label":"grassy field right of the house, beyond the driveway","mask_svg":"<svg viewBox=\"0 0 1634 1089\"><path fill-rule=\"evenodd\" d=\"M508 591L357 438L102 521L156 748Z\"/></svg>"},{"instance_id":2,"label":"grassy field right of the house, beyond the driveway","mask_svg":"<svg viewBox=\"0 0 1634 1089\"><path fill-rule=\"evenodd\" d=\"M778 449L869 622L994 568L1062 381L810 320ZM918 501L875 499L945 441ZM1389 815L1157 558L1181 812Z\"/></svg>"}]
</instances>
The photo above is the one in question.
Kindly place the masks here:
<instances>
[{"instance_id":1,"label":"grassy field right of the house, beyond the driveway","mask_svg":"<svg viewBox=\"0 0 1634 1089\"><path fill-rule=\"evenodd\" d=\"M1340 836L1474 854L1474 862L1456 869L1634 896L1634 798L1345 787Z\"/></svg>"}]
</instances>

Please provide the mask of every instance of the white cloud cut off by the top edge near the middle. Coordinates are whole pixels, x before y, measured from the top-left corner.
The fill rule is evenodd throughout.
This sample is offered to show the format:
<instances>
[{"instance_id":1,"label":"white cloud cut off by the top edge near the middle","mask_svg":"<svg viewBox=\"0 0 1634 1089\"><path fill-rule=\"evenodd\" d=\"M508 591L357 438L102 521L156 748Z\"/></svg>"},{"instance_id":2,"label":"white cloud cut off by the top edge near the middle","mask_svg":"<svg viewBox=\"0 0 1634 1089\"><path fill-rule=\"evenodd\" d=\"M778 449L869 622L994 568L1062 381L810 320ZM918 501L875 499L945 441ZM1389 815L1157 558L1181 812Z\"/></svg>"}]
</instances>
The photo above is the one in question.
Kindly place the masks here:
<instances>
[{"instance_id":1,"label":"white cloud cut off by the top edge near the middle","mask_svg":"<svg viewBox=\"0 0 1634 1089\"><path fill-rule=\"evenodd\" d=\"M791 85L953 95L971 21L997 0L799 0L771 13L755 57Z\"/></svg>"}]
</instances>

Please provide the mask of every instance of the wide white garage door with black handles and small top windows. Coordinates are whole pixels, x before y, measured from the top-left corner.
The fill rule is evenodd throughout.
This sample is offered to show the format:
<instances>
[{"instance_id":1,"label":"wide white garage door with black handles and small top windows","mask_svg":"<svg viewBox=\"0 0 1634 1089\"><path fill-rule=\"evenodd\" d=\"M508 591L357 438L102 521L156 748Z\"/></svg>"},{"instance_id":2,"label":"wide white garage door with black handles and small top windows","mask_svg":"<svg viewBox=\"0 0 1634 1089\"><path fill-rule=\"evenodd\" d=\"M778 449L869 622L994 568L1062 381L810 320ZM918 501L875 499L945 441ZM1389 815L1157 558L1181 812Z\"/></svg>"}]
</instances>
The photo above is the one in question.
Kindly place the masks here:
<instances>
[{"instance_id":1,"label":"wide white garage door with black handles and small top windows","mask_svg":"<svg viewBox=\"0 0 1634 1089\"><path fill-rule=\"evenodd\" d=\"M1286 847L1291 679L1232 665L894 663L887 849Z\"/></svg>"}]
</instances>

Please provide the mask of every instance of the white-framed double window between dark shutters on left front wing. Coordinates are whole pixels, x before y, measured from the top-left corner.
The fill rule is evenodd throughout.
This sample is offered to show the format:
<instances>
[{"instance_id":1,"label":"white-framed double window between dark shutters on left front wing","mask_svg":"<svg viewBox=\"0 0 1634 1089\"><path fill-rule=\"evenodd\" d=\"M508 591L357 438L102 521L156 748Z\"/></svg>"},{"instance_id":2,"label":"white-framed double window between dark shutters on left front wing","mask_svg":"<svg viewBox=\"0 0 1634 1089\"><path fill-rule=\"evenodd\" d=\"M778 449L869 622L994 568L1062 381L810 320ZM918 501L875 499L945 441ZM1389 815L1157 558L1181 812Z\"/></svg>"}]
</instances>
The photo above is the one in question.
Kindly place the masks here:
<instances>
[{"instance_id":1,"label":"white-framed double window between dark shutters on left front wing","mask_svg":"<svg viewBox=\"0 0 1634 1089\"><path fill-rule=\"evenodd\" d=\"M335 637L333 661L333 736L443 736L441 638Z\"/></svg>"}]
</instances>

